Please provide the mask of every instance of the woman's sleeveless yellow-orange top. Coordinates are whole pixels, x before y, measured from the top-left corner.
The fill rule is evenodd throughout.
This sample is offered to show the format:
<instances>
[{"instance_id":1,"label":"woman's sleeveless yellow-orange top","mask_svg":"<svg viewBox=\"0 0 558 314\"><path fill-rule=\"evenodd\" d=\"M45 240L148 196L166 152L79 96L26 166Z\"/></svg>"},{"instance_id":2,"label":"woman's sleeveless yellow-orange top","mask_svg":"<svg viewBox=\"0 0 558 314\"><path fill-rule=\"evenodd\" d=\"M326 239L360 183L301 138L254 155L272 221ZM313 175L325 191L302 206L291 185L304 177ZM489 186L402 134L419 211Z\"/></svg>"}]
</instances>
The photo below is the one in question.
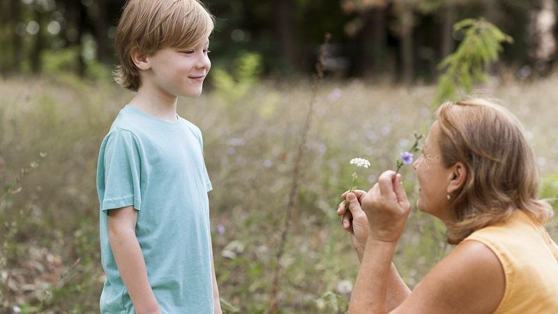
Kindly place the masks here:
<instances>
[{"instance_id":1,"label":"woman's sleeveless yellow-orange top","mask_svg":"<svg viewBox=\"0 0 558 314\"><path fill-rule=\"evenodd\" d=\"M558 246L540 223L518 209L467 240L488 246L504 269L506 290L494 313L558 313Z\"/></svg>"}]
</instances>

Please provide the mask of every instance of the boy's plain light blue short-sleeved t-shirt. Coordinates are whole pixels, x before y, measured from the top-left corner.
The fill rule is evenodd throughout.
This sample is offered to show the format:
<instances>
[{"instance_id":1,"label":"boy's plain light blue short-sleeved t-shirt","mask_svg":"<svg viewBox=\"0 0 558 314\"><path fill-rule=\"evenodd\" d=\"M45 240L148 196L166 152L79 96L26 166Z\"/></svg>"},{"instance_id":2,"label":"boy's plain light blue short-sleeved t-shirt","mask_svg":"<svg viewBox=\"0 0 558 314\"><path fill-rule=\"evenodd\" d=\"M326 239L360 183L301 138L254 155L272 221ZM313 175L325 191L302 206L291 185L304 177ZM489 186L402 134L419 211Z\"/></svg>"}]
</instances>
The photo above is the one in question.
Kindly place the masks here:
<instances>
[{"instance_id":1,"label":"boy's plain light blue short-sleeved t-shirt","mask_svg":"<svg viewBox=\"0 0 558 314\"><path fill-rule=\"evenodd\" d=\"M107 211L137 209L135 234L161 311L213 314L211 182L202 133L186 119L167 122L126 105L100 146L97 192L107 280L101 313L135 313L109 244Z\"/></svg>"}]
</instances>

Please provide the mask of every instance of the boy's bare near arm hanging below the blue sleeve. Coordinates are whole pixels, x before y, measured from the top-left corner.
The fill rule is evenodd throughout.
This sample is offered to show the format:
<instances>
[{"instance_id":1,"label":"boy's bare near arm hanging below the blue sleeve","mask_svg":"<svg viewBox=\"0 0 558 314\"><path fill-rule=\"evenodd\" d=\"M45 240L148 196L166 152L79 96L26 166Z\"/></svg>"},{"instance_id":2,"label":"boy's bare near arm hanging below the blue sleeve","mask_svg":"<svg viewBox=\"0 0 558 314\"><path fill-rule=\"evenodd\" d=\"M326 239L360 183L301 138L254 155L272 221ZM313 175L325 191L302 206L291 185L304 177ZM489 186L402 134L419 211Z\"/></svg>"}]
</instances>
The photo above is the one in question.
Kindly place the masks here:
<instances>
[{"instance_id":1,"label":"boy's bare near arm hanging below the blue sleeve","mask_svg":"<svg viewBox=\"0 0 558 314\"><path fill-rule=\"evenodd\" d=\"M135 236L137 211L131 207L108 211L109 243L116 267L126 285L137 314L160 314L147 278L140 243Z\"/></svg>"}]
</instances>

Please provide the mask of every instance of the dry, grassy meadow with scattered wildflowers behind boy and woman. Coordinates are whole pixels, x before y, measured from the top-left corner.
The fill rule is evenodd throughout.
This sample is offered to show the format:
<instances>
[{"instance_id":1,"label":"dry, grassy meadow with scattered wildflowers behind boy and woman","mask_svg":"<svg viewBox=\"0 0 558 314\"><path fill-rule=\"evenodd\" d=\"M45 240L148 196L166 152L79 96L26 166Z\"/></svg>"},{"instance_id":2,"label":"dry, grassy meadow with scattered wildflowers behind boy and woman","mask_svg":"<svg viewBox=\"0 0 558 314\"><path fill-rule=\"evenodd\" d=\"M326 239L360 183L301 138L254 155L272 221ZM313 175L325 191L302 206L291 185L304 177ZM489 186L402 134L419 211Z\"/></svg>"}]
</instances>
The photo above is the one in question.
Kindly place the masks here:
<instances>
[{"instance_id":1,"label":"dry, grassy meadow with scattered wildflowers behind boy and woman","mask_svg":"<svg viewBox=\"0 0 558 314\"><path fill-rule=\"evenodd\" d=\"M525 124L541 172L541 195L558 197L558 76L492 83ZM395 166L412 133L432 122L435 87L361 80L324 82L303 155L280 292L280 313L342 313L358 260L335 209L349 188L349 160L363 157L357 185L368 189ZM98 244L97 154L112 119L131 98L110 82L70 75L0 81L0 312L98 313L103 269ZM262 313L310 82L250 82L179 100L201 128L213 183L213 251L223 299L239 313ZM416 181L402 170L409 197ZM554 201L557 210L557 202ZM558 238L558 218L548 225ZM395 264L416 285L451 246L434 218L413 211ZM334 292L334 293L331 293Z\"/></svg>"}]
</instances>

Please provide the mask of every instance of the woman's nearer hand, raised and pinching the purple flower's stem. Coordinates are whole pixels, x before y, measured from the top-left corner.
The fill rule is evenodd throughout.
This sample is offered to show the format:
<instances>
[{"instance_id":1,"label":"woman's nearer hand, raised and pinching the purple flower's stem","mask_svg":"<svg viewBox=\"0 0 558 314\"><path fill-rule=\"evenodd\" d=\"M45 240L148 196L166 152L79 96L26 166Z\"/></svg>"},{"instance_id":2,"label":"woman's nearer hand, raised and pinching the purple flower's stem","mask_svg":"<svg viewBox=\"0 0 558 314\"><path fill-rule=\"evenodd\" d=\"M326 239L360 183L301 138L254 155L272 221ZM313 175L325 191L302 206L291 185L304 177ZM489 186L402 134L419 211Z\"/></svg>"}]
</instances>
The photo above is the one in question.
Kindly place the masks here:
<instances>
[{"instance_id":1,"label":"woman's nearer hand, raised and pinching the purple flower's stem","mask_svg":"<svg viewBox=\"0 0 558 314\"><path fill-rule=\"evenodd\" d=\"M385 242L397 242L405 228L411 211L403 188L401 174L388 170L361 199L361 206L368 218L370 237Z\"/></svg>"}]
</instances>

